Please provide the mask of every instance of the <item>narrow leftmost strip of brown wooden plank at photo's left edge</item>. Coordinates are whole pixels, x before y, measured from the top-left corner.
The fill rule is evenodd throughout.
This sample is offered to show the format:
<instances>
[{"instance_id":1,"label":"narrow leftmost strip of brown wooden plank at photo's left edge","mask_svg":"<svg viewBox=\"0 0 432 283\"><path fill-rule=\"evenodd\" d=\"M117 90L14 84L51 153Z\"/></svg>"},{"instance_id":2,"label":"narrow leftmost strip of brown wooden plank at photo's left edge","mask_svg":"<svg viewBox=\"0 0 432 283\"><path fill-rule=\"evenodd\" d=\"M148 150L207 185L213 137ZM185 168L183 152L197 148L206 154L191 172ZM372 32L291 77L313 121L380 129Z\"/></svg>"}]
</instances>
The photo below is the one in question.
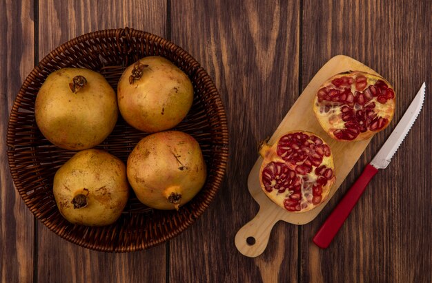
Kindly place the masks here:
<instances>
[{"instance_id":1,"label":"narrow leftmost strip of brown wooden plank at photo's left edge","mask_svg":"<svg viewBox=\"0 0 432 283\"><path fill-rule=\"evenodd\" d=\"M32 282L34 218L14 189L6 134L14 99L34 66L33 1L0 6L0 281Z\"/></svg>"}]
</instances>

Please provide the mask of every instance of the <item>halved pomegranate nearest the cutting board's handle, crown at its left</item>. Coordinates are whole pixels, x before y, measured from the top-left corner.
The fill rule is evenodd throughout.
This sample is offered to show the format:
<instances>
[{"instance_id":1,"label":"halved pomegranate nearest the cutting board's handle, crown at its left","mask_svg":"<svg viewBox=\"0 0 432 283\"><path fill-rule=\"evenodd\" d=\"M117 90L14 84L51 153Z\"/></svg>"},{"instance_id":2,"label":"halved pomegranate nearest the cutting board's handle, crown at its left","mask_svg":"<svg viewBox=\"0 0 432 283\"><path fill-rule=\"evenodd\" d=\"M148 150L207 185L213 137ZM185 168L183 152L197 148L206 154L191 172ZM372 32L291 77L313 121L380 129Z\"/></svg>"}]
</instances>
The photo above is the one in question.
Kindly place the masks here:
<instances>
[{"instance_id":1,"label":"halved pomegranate nearest the cutting board's handle, crown at its left","mask_svg":"<svg viewBox=\"0 0 432 283\"><path fill-rule=\"evenodd\" d=\"M336 177L330 147L322 138L310 132L288 132L272 146L264 142L259 154L264 158L259 182L280 207L304 212L328 198Z\"/></svg>"}]
</instances>

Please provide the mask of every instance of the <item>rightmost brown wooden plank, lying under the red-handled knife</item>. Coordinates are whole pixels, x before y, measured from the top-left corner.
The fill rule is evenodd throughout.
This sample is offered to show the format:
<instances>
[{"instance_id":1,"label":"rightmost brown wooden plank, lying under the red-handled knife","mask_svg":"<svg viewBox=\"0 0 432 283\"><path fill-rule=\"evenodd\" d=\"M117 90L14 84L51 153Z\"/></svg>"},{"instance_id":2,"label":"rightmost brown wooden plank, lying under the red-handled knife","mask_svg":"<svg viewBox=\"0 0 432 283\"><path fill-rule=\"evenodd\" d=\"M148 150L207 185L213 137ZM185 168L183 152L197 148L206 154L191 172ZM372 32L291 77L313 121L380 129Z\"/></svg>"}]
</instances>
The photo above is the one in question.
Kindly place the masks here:
<instances>
[{"instance_id":1,"label":"rightmost brown wooden plank, lying under the red-handled knife","mask_svg":"<svg viewBox=\"0 0 432 283\"><path fill-rule=\"evenodd\" d=\"M375 135L321 215L301 229L302 282L429 282L431 274L431 109L386 170L371 181L326 250L311 242L326 216L360 176L426 80L431 85L431 2L304 1L302 87L336 54L369 65L397 92L393 123Z\"/></svg>"}]
</instances>

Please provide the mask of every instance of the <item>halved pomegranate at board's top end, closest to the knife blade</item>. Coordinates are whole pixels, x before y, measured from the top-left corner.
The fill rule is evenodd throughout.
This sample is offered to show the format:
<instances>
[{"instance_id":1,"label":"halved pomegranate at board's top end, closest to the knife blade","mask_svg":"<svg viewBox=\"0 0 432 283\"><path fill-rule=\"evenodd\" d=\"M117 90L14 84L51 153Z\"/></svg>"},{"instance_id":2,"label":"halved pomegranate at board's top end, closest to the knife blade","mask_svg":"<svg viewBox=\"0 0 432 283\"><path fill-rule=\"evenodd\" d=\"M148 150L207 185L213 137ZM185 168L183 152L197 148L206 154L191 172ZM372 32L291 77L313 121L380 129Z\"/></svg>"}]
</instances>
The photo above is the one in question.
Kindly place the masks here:
<instances>
[{"instance_id":1,"label":"halved pomegranate at board's top end, closest to the knife blade","mask_svg":"<svg viewBox=\"0 0 432 283\"><path fill-rule=\"evenodd\" d=\"M335 140L366 140L389 125L395 112L395 92L380 76L345 72L321 85L313 112Z\"/></svg>"}]
</instances>

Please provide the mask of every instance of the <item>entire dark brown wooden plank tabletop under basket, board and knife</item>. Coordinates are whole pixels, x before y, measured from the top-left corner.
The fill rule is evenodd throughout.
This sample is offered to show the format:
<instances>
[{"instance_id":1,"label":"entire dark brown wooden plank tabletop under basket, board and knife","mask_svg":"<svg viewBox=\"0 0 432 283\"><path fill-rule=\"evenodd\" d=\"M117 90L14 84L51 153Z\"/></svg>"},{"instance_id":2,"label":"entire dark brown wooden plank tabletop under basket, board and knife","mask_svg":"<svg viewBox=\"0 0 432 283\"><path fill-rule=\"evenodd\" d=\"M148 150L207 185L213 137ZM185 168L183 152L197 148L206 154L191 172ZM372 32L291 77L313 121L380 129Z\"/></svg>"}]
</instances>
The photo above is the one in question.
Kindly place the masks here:
<instances>
[{"instance_id":1,"label":"entire dark brown wooden plank tabletop under basket, board and knife","mask_svg":"<svg viewBox=\"0 0 432 283\"><path fill-rule=\"evenodd\" d=\"M33 1L0 0L3 137L10 107L35 55L41 59L85 32L128 25L166 36L206 68L228 114L230 160L219 194L184 233L148 251L108 254L70 244L39 222L33 227L32 214L13 189L3 138L1 282L430 282L431 1L36 3L38 54ZM393 84L393 123L373 138L320 216L303 227L278 222L266 251L246 258L235 249L234 236L258 211L246 187L257 142L275 132L311 78L337 54L361 61ZM384 143L423 81L426 101L418 121L389 168L371 181L331 247L320 250L311 241L313 235Z\"/></svg>"}]
</instances>

